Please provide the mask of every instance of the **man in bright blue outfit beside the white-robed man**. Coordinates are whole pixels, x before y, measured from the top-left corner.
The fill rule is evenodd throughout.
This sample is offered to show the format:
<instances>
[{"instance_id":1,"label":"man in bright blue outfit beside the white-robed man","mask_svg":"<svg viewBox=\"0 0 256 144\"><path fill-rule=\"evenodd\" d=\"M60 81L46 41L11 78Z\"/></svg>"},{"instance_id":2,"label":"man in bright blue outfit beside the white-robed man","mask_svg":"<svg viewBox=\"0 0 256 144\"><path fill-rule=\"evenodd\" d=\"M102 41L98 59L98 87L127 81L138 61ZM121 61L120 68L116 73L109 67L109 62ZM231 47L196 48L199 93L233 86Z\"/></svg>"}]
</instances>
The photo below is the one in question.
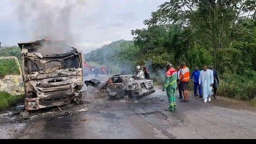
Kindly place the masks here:
<instances>
[{"instance_id":1,"label":"man in bright blue outfit beside the white-robed man","mask_svg":"<svg viewBox=\"0 0 256 144\"><path fill-rule=\"evenodd\" d=\"M195 70L193 71L190 79L194 79L194 96L197 97L197 86L198 86L198 90L199 90L199 97L203 97L202 96L202 88L201 86L199 86L199 75L200 75L200 71L198 69L198 67L196 66Z\"/></svg>"}]
</instances>

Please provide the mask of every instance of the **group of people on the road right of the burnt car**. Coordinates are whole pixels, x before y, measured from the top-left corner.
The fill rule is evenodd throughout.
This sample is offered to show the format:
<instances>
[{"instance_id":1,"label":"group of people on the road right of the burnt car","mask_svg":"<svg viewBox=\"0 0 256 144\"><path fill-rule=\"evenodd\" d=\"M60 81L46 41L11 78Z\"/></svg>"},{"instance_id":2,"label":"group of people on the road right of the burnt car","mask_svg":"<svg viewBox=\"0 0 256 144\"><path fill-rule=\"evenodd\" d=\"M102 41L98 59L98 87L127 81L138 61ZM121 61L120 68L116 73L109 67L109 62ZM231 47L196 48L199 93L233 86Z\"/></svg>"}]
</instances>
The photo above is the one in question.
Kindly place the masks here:
<instances>
[{"instance_id":1,"label":"group of people on the road right of the burnt car","mask_svg":"<svg viewBox=\"0 0 256 144\"><path fill-rule=\"evenodd\" d=\"M188 102L188 83L190 79L194 83L194 96L203 98L203 102L211 101L211 96L213 95L216 98L216 92L219 85L219 78L217 71L213 66L209 68L204 65L203 70L199 71L198 67L195 68L192 75L190 75L190 69L186 66L185 63L178 65L176 69L173 68L172 64L167 64L166 74L165 74L165 83L162 91L166 91L169 107L166 111L176 110L176 97L175 91L178 87L179 97L183 98L182 102ZM197 89L199 95L197 94ZM212 90L214 91L212 92ZM183 97L182 97L183 93Z\"/></svg>"}]
</instances>

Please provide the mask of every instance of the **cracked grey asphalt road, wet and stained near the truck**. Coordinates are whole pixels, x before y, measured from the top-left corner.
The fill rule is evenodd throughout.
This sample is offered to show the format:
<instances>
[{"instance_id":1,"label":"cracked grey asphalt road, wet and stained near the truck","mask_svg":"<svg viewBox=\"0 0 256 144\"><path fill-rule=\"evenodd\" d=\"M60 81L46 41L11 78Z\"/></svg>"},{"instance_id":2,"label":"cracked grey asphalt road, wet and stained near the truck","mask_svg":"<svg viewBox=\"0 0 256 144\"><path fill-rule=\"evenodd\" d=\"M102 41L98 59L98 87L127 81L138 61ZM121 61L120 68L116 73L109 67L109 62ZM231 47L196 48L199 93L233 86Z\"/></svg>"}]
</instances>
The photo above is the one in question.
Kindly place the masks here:
<instances>
[{"instance_id":1,"label":"cracked grey asphalt road, wet and stained near the truck","mask_svg":"<svg viewBox=\"0 0 256 144\"><path fill-rule=\"evenodd\" d=\"M177 99L177 110L167 112L166 94L160 87L155 89L154 94L140 101L92 100L85 96L85 101L91 101L60 107L62 111L49 109L55 113L30 121L0 118L0 138L256 138L255 112L215 105L216 100L203 103L196 97L190 97L187 103ZM71 114L63 114L68 112Z\"/></svg>"}]
</instances>

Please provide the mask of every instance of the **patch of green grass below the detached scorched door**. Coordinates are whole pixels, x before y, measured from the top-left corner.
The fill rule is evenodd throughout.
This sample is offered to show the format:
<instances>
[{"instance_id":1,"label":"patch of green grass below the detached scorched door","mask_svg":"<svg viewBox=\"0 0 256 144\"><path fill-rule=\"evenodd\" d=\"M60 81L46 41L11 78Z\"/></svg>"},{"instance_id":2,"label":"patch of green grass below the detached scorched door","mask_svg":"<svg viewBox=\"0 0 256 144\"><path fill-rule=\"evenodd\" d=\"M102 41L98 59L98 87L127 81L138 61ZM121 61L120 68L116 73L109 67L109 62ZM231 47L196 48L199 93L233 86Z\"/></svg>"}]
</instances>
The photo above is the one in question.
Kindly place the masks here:
<instances>
[{"instance_id":1,"label":"patch of green grass below the detached scorched door","mask_svg":"<svg viewBox=\"0 0 256 144\"><path fill-rule=\"evenodd\" d=\"M0 92L0 111L14 105L18 100L23 100L24 95L12 96L6 92Z\"/></svg>"}]
</instances>

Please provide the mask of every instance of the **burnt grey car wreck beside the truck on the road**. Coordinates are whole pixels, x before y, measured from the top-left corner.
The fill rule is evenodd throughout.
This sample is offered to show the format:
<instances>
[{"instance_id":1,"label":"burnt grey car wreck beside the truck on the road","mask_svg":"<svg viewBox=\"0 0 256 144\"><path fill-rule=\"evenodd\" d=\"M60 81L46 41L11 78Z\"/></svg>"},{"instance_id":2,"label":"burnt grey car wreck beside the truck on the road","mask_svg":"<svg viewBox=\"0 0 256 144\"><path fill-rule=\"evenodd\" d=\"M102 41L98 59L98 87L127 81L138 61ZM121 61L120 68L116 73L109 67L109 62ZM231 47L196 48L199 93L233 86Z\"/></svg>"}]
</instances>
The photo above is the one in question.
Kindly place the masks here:
<instances>
[{"instance_id":1,"label":"burnt grey car wreck beside the truck on the road","mask_svg":"<svg viewBox=\"0 0 256 144\"><path fill-rule=\"evenodd\" d=\"M144 80L134 75L114 75L106 82L91 79L85 81L85 84L105 90L110 100L140 98L155 92L153 80Z\"/></svg>"}]
</instances>

